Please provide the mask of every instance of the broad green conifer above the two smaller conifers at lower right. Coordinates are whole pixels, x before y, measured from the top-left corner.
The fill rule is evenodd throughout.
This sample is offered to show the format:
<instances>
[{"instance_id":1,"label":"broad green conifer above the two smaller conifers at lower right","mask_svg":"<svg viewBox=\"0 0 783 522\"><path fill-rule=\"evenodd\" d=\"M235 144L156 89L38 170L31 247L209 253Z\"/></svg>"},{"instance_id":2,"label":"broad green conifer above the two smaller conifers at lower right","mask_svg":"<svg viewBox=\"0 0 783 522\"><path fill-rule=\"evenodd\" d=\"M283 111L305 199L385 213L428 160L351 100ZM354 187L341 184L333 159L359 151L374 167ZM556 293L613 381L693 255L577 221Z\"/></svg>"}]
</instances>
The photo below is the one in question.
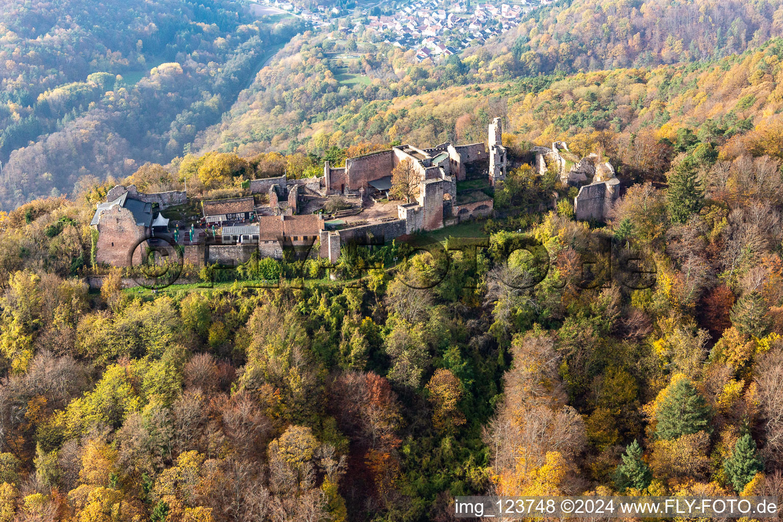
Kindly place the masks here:
<instances>
[{"instance_id":1,"label":"broad green conifer above the two smaller conifers at lower right","mask_svg":"<svg viewBox=\"0 0 783 522\"><path fill-rule=\"evenodd\" d=\"M690 380L675 381L669 394L655 411L658 425L655 435L662 440L673 440L683 435L710 432L712 411Z\"/></svg>"}]
</instances>

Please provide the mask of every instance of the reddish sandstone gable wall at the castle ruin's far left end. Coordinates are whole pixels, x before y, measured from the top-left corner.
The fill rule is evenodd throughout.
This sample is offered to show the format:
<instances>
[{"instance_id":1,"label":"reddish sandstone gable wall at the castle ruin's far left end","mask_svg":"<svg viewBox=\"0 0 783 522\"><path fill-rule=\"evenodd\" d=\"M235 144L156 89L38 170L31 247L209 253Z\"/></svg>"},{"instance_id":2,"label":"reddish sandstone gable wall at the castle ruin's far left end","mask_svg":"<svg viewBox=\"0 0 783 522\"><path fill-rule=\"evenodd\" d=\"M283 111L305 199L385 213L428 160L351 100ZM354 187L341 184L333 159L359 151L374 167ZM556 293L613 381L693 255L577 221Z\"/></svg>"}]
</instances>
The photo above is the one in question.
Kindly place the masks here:
<instances>
[{"instance_id":1,"label":"reddish sandstone gable wall at the castle ruin's far left end","mask_svg":"<svg viewBox=\"0 0 783 522\"><path fill-rule=\"evenodd\" d=\"M131 249L146 238L146 227L136 225L136 220L127 208L115 206L101 214L96 244L96 261L99 265L131 266ZM141 261L140 247L135 263Z\"/></svg>"}]
</instances>

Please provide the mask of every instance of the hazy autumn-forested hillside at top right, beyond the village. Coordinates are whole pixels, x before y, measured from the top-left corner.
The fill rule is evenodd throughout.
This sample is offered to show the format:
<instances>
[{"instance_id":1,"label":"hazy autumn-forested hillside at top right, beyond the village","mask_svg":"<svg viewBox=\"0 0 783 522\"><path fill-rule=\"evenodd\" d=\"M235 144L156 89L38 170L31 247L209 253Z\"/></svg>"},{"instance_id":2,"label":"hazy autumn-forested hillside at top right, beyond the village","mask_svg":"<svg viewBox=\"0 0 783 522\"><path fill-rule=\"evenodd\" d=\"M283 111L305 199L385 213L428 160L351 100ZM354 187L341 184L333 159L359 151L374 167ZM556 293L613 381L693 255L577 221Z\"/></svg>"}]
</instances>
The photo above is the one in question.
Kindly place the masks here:
<instances>
[{"instance_id":1,"label":"hazy autumn-forested hillside at top right, beyond the village","mask_svg":"<svg viewBox=\"0 0 783 522\"><path fill-rule=\"evenodd\" d=\"M561 0L468 49L485 75L651 67L744 52L783 35L783 2Z\"/></svg>"}]
</instances>

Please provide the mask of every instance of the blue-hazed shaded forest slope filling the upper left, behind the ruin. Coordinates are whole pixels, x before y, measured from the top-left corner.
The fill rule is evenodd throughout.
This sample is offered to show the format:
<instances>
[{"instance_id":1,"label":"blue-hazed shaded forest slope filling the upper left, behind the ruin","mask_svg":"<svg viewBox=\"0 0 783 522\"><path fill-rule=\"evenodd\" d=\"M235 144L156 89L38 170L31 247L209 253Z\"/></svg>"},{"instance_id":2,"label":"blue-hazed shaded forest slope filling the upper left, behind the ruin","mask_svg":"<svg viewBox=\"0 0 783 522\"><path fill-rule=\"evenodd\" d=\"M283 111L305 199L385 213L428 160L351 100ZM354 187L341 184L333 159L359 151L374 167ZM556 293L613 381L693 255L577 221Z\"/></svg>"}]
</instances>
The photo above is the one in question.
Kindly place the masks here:
<instances>
[{"instance_id":1,"label":"blue-hazed shaded forest slope filling the upper left, behind the ruin","mask_svg":"<svg viewBox=\"0 0 783 522\"><path fill-rule=\"evenodd\" d=\"M3 2L0 207L181 156L301 20L229 2ZM269 17L267 17L269 18Z\"/></svg>"}]
</instances>

